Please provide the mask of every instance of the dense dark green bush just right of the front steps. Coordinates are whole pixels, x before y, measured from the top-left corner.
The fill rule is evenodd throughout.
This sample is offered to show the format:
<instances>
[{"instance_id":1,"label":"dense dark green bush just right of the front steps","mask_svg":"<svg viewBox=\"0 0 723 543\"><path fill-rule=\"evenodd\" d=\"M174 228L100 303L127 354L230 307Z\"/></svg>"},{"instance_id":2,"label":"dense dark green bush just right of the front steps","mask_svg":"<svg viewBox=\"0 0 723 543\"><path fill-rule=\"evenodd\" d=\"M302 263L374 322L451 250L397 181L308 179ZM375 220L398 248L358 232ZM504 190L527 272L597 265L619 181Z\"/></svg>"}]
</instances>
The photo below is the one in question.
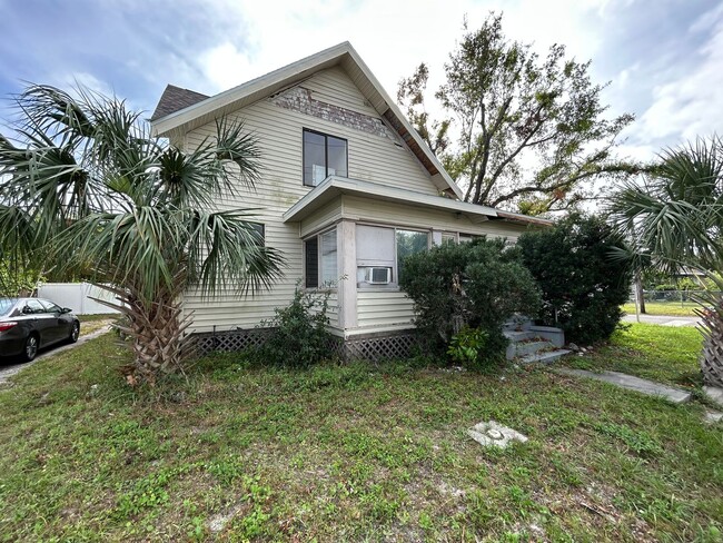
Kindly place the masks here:
<instances>
[{"instance_id":1,"label":"dense dark green bush just right of the front steps","mask_svg":"<svg viewBox=\"0 0 723 543\"><path fill-rule=\"evenodd\" d=\"M543 293L542 323L563 328L570 342L607 339L630 296L630 267L611 258L623 245L602 218L577 214L522 235L517 246Z\"/></svg>"}]
</instances>

